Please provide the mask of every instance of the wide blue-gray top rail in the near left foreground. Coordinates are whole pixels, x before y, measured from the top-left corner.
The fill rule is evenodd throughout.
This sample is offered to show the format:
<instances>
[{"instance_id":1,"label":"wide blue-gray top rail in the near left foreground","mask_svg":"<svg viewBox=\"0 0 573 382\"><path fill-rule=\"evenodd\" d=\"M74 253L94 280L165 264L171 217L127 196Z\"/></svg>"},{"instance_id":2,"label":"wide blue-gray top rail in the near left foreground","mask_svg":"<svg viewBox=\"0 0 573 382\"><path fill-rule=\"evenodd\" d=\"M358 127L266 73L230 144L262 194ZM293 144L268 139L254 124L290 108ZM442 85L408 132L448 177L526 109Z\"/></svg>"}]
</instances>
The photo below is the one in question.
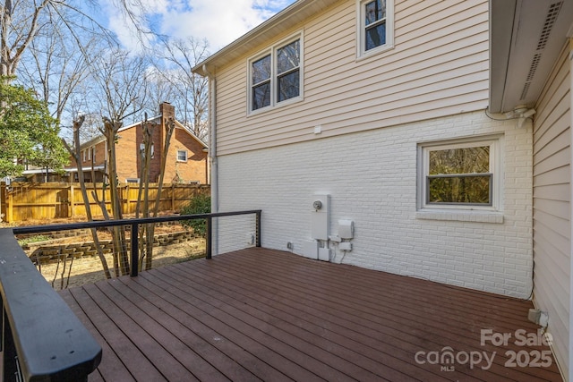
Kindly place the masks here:
<instances>
[{"instance_id":1,"label":"wide blue-gray top rail in the near left foreground","mask_svg":"<svg viewBox=\"0 0 573 382\"><path fill-rule=\"evenodd\" d=\"M4 371L17 369L26 381L72 381L98 367L101 347L38 273L10 228L0 229L0 295L7 319L3 350L10 335L19 360L4 354Z\"/></svg>"}]
</instances>

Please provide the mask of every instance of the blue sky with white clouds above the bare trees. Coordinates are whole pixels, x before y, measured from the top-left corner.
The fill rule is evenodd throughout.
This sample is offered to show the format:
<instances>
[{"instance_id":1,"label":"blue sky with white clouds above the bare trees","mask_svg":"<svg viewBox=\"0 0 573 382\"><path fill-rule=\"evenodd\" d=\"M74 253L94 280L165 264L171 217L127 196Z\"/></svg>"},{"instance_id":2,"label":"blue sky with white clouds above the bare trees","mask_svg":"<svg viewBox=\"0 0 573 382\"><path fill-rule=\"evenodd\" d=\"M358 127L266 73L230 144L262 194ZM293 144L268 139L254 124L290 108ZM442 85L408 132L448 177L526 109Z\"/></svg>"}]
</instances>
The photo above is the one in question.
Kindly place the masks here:
<instances>
[{"instance_id":1,"label":"blue sky with white clouds above the bare trees","mask_svg":"<svg viewBox=\"0 0 573 382\"><path fill-rule=\"evenodd\" d=\"M295 0L142 0L147 4L146 15L152 28L174 38L207 39L209 50L215 53L236 38L252 30L273 14ZM129 32L113 0L102 0L108 28L128 49L137 50L137 38ZM106 16L104 16L106 17Z\"/></svg>"}]
</instances>

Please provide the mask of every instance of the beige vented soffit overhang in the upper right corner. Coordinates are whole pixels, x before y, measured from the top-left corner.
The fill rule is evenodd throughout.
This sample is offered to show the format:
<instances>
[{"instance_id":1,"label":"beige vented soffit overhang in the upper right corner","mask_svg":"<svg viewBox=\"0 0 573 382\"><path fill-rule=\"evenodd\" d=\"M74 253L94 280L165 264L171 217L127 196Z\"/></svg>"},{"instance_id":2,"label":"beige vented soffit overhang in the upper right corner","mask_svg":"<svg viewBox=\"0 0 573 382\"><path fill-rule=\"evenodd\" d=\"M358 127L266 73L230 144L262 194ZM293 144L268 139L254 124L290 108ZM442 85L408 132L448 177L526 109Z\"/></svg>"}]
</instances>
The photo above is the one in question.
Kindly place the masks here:
<instances>
[{"instance_id":1,"label":"beige vented soffit overhang in the upper right corner","mask_svg":"<svg viewBox=\"0 0 573 382\"><path fill-rule=\"evenodd\" d=\"M573 0L490 0L490 112L535 105L572 26Z\"/></svg>"}]
</instances>

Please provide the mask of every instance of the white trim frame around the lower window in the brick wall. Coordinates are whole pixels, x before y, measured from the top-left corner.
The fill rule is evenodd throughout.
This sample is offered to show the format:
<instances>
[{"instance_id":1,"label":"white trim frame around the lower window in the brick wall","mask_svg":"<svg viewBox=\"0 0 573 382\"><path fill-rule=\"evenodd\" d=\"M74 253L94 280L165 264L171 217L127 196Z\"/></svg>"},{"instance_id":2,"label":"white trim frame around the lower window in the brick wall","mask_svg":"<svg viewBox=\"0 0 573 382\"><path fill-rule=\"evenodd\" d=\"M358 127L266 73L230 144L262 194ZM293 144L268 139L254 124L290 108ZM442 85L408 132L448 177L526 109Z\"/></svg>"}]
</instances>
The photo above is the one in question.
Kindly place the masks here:
<instances>
[{"instance_id":1,"label":"white trim frame around the lower window in the brick wall","mask_svg":"<svg viewBox=\"0 0 573 382\"><path fill-rule=\"evenodd\" d=\"M440 140L424 142L418 144L418 211L452 211L452 212L496 212L502 210L503 195L503 157L502 157L503 137L482 136L472 137L459 140ZM491 187L491 204L477 203L431 203L428 202L428 178L430 172L430 151L440 149L463 149L477 146L490 147L490 168L492 182Z\"/></svg>"}]
</instances>

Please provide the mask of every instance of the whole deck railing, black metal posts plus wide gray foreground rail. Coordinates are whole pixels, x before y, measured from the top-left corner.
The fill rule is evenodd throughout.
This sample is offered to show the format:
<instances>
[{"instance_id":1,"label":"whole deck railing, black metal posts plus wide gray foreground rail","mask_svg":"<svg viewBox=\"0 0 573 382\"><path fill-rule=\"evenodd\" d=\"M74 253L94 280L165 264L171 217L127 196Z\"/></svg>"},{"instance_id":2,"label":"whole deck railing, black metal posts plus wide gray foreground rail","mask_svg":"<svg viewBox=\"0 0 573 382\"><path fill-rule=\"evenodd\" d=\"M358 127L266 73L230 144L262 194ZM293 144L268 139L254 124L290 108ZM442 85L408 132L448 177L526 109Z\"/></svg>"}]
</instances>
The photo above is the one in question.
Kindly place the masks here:
<instances>
[{"instance_id":1,"label":"whole deck railing, black metal posts plus wide gray foreground rail","mask_svg":"<svg viewBox=\"0 0 573 382\"><path fill-rule=\"evenodd\" d=\"M261 247L261 210L106 220L0 229L0 297L3 306L4 381L82 381L101 361L101 347L26 256L14 234L131 226L130 275L138 273L138 226L206 219L206 256L212 256L212 221L223 216L256 216L255 245Z\"/></svg>"}]
</instances>

